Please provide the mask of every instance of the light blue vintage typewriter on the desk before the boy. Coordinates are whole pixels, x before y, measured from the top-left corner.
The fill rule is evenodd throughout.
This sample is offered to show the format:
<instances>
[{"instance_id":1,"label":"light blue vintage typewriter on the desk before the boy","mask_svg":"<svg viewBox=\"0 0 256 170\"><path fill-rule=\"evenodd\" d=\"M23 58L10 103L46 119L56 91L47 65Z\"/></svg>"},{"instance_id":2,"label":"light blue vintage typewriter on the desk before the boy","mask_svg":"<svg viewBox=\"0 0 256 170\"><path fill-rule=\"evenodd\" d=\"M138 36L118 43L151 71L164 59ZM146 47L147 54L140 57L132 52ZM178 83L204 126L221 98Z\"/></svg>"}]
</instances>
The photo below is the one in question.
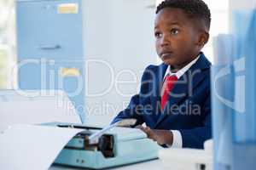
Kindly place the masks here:
<instances>
[{"instance_id":1,"label":"light blue vintage typewriter on the desk before the boy","mask_svg":"<svg viewBox=\"0 0 256 170\"><path fill-rule=\"evenodd\" d=\"M55 164L101 169L158 157L160 146L148 139L143 131L120 127L124 122L117 123L103 129L66 123L51 124L64 128L84 128L61 150Z\"/></svg>"}]
</instances>

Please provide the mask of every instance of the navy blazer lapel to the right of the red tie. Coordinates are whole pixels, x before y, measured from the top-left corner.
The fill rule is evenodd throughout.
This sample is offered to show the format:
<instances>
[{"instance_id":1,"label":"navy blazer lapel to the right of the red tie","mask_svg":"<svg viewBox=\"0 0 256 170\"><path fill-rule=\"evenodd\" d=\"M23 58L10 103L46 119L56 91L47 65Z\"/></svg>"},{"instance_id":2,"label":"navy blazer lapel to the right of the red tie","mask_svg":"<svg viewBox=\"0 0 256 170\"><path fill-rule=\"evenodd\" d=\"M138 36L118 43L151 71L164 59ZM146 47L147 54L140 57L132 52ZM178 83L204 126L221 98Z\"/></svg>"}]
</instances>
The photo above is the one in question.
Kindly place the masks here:
<instances>
[{"instance_id":1,"label":"navy blazer lapel to the right of the red tie","mask_svg":"<svg viewBox=\"0 0 256 170\"><path fill-rule=\"evenodd\" d=\"M164 111L162 111L154 128L157 127L168 114L170 114L170 107L172 107L172 105L179 105L183 99L187 99L193 94L193 89L196 88L199 82L205 77L201 71L205 68L209 68L210 65L210 62L203 54L201 54L200 59L197 60L195 65L192 65L189 71L186 71L184 75L178 79L177 84L174 86L172 93L169 96L168 103L166 104Z\"/></svg>"}]
</instances>

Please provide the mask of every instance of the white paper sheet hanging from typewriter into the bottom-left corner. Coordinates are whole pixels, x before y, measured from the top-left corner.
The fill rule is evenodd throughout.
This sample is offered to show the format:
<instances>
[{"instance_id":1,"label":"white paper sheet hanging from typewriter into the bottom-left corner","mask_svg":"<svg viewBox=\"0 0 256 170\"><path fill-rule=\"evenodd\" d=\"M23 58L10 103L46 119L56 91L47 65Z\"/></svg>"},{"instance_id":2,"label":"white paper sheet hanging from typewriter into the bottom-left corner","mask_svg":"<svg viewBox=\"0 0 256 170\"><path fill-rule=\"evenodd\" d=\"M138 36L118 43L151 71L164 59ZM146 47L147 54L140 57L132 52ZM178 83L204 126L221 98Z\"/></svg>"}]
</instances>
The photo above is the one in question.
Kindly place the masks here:
<instances>
[{"instance_id":1,"label":"white paper sheet hanging from typewriter into the bottom-left corner","mask_svg":"<svg viewBox=\"0 0 256 170\"><path fill-rule=\"evenodd\" d=\"M0 165L3 169L45 170L67 142L83 129L14 125L0 134Z\"/></svg>"}]
</instances>

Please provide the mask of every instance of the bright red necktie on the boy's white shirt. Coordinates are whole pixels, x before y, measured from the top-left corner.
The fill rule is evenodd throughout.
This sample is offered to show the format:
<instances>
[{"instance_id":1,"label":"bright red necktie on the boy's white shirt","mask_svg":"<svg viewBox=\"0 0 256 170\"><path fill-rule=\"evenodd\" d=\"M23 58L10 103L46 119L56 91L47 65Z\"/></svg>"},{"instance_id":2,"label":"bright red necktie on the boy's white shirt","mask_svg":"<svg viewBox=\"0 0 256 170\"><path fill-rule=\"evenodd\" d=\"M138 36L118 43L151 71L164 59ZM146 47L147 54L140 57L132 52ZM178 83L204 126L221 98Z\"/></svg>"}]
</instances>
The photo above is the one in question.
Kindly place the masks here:
<instances>
[{"instance_id":1,"label":"bright red necktie on the boy's white shirt","mask_svg":"<svg viewBox=\"0 0 256 170\"><path fill-rule=\"evenodd\" d=\"M161 96L161 109L162 111L165 108L166 102L168 100L169 94L172 91L172 88L175 84L175 82L177 82L177 77L174 76L166 76L165 78L165 82L163 84L163 91L162 91L162 96Z\"/></svg>"}]
</instances>

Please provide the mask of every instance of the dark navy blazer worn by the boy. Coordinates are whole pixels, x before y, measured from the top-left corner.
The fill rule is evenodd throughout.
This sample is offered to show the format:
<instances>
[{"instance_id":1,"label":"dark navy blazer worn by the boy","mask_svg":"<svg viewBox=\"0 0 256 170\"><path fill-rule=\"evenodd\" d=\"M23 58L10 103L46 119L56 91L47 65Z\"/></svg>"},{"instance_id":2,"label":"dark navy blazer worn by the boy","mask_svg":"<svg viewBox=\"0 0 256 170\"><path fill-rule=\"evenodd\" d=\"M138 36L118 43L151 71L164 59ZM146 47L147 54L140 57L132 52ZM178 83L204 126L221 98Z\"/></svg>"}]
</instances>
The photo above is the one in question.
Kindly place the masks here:
<instances>
[{"instance_id":1,"label":"dark navy blazer worn by the boy","mask_svg":"<svg viewBox=\"0 0 256 170\"><path fill-rule=\"evenodd\" d=\"M204 54L178 79L165 109L160 109L160 92L168 65L149 65L143 72L140 93L113 119L136 118L153 129L179 130L183 147L203 148L212 138L210 66ZM113 123L112 122L112 123Z\"/></svg>"}]
</instances>

